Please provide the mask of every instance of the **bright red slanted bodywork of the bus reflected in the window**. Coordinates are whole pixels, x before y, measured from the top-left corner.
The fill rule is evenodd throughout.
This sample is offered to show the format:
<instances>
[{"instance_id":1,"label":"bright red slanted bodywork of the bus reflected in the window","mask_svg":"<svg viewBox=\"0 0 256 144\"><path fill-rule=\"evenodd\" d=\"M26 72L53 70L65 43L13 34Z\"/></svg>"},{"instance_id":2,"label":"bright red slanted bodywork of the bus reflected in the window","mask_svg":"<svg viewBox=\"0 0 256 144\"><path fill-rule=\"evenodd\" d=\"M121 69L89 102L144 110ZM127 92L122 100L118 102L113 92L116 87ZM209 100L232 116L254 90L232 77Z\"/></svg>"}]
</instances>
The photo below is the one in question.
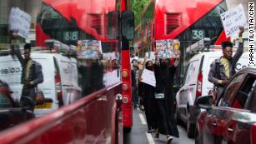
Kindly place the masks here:
<instances>
[{"instance_id":1,"label":"bright red slanted bodywork of the bus reflected in the window","mask_svg":"<svg viewBox=\"0 0 256 144\"><path fill-rule=\"evenodd\" d=\"M70 0L44 0L43 2L51 7L54 7L56 11L62 13L63 17L65 17L69 22L74 19L77 22L78 27L81 28L84 32L88 32L100 41L108 40L107 32L98 32L97 28L103 27L95 26L96 23L93 22L93 14L99 13L101 16L98 17L104 17L104 14L115 10L115 1L93 0L77 2ZM103 20L98 22L103 22ZM104 23L101 25L104 25Z\"/></svg>"}]
</instances>

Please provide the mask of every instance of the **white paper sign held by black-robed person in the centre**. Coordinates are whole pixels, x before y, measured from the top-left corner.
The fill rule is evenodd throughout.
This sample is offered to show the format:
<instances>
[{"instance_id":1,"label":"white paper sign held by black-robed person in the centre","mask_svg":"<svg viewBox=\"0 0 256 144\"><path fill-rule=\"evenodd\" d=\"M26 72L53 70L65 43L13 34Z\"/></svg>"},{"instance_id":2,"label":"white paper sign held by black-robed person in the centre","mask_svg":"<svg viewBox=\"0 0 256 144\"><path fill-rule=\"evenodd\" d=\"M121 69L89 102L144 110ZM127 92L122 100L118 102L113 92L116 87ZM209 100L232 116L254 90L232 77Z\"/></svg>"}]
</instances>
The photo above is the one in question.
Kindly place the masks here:
<instances>
[{"instance_id":1,"label":"white paper sign held by black-robed person in the centre","mask_svg":"<svg viewBox=\"0 0 256 144\"><path fill-rule=\"evenodd\" d=\"M153 87L156 87L156 78L154 77L154 72L149 71L148 69L143 70L142 74L142 82L147 83L148 85L151 85Z\"/></svg>"}]
</instances>

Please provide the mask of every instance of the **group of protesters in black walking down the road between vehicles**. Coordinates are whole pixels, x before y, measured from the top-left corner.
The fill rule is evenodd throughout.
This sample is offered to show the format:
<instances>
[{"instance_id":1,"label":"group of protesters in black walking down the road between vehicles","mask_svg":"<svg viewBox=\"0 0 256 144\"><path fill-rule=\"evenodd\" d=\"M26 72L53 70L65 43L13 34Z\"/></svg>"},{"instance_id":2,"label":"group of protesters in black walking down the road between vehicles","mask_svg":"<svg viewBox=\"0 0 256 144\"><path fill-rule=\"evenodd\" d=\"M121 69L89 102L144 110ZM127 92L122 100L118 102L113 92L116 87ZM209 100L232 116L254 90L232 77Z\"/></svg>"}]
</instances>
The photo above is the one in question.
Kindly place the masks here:
<instances>
[{"instance_id":1,"label":"group of protesters in black walking down the road between vehicles","mask_svg":"<svg viewBox=\"0 0 256 144\"><path fill-rule=\"evenodd\" d=\"M148 133L166 135L170 143L173 137L179 137L178 127L174 120L173 81L179 59L161 58L154 61L145 57L144 62L132 61L133 107L144 109L148 124ZM155 87L142 82L143 69L153 71ZM143 105L143 108L142 108Z\"/></svg>"}]
</instances>

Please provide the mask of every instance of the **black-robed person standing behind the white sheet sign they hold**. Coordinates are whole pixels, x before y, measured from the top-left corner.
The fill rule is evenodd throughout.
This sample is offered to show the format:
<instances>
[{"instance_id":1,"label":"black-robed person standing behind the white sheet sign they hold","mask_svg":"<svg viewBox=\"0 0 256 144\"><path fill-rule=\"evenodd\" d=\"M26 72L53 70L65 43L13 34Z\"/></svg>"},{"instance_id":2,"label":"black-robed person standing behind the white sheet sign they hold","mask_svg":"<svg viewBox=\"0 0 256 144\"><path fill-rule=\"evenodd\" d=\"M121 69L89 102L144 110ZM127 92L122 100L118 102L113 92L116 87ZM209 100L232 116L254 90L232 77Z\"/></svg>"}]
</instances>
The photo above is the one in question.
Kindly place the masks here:
<instances>
[{"instance_id":1,"label":"black-robed person standing behind the white sheet sign they hold","mask_svg":"<svg viewBox=\"0 0 256 144\"><path fill-rule=\"evenodd\" d=\"M145 64L145 68L148 69L149 71L153 71L153 62L148 61ZM142 80L142 79L141 79ZM148 123L148 133L152 133L153 129L156 128L156 121L154 121L155 117L155 101L154 101L154 91L155 87L143 83L144 87L144 108L145 108L145 114L146 114L146 119Z\"/></svg>"}]
</instances>

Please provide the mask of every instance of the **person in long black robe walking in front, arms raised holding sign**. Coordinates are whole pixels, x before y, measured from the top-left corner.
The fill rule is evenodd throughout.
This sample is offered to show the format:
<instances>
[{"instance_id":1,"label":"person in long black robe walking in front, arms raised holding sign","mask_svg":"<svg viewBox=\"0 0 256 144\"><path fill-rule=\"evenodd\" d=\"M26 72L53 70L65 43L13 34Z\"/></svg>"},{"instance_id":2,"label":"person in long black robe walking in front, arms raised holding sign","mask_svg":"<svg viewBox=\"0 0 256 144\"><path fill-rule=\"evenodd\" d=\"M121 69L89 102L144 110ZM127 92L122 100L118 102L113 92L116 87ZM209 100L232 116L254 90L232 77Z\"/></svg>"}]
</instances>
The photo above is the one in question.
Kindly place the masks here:
<instances>
[{"instance_id":1,"label":"person in long black robe walking in front, arms raised holding sign","mask_svg":"<svg viewBox=\"0 0 256 144\"><path fill-rule=\"evenodd\" d=\"M166 135L168 143L173 137L179 137L178 127L174 121L174 96L173 96L173 77L178 66L178 59L175 63L168 63L166 58L160 59L154 66L156 77L155 99L158 108L158 132Z\"/></svg>"}]
</instances>

